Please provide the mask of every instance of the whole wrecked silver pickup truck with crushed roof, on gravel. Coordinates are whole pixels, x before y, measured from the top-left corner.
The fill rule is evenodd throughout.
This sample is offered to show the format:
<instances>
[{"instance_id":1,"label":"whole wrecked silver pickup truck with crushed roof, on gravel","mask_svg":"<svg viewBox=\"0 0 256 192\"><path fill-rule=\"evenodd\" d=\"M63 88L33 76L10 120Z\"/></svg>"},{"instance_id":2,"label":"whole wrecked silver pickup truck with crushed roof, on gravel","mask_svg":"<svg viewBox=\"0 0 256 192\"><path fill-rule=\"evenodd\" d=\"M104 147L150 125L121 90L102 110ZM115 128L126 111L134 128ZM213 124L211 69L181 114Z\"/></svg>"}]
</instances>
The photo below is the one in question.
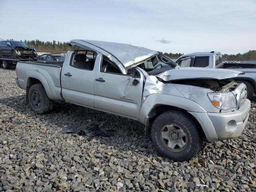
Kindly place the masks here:
<instances>
[{"instance_id":1,"label":"whole wrecked silver pickup truck with crushed roof, on gravel","mask_svg":"<svg viewBox=\"0 0 256 192\"><path fill-rule=\"evenodd\" d=\"M249 116L246 86L232 70L180 68L159 52L113 42L71 40L64 62L18 62L16 83L42 114L54 100L140 121L158 152L190 160L203 138L238 137Z\"/></svg>"}]
</instances>

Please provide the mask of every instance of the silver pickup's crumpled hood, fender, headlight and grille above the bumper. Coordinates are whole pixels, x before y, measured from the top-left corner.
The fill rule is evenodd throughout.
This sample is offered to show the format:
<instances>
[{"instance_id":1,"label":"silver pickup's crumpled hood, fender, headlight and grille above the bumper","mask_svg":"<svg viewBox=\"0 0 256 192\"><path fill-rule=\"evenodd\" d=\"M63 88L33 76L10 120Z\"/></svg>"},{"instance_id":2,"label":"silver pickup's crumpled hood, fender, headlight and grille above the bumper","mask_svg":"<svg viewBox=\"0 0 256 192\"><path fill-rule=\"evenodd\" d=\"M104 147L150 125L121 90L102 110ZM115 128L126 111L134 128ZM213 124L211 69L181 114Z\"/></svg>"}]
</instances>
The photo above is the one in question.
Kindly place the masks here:
<instances>
[{"instance_id":1,"label":"silver pickup's crumpled hood, fender, headlight and grille above the bumper","mask_svg":"<svg viewBox=\"0 0 256 192\"><path fill-rule=\"evenodd\" d=\"M183 69L172 69L156 75L146 74L142 103L150 94L160 93L192 100L206 112L238 110L244 104L246 86L231 79L240 72Z\"/></svg>"}]
</instances>

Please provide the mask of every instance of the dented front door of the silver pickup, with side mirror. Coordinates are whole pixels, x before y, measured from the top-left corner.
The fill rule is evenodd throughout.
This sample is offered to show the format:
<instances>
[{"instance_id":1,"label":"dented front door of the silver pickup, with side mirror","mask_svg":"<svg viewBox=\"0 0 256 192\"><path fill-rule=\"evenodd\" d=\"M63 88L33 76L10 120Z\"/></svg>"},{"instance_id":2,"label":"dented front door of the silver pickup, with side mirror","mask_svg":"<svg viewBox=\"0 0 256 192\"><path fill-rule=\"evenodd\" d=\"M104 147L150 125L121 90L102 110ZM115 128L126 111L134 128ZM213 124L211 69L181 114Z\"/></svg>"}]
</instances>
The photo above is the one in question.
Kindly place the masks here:
<instances>
[{"instance_id":1,"label":"dented front door of the silver pickup, with side mirror","mask_svg":"<svg viewBox=\"0 0 256 192\"><path fill-rule=\"evenodd\" d=\"M143 74L134 78L122 74L108 58L102 58L95 74L94 107L99 110L138 119L143 89ZM136 79L136 80L135 80Z\"/></svg>"}]
</instances>

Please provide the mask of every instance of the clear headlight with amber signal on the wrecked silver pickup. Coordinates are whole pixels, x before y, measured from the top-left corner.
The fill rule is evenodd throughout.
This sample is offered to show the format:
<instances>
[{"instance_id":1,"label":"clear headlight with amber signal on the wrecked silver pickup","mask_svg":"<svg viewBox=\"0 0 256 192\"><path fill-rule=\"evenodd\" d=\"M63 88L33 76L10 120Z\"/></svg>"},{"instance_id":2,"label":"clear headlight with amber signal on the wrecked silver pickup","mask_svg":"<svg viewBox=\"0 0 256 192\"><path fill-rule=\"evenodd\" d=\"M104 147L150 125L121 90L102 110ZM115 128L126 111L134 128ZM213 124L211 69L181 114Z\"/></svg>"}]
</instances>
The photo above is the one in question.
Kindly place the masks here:
<instances>
[{"instance_id":1,"label":"clear headlight with amber signal on the wrecked silver pickup","mask_svg":"<svg viewBox=\"0 0 256 192\"><path fill-rule=\"evenodd\" d=\"M223 110L236 108L236 97L232 92L208 93L208 97L212 104Z\"/></svg>"}]
</instances>

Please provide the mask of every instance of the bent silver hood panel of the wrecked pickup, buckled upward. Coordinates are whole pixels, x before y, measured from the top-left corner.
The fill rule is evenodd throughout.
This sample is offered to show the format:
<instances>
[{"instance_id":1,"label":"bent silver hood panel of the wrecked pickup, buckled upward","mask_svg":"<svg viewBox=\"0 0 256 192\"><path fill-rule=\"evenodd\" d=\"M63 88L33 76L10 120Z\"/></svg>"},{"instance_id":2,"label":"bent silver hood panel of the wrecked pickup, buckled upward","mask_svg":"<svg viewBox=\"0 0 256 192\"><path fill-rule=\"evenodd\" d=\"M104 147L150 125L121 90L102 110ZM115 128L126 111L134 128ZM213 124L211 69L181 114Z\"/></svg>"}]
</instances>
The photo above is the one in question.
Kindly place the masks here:
<instances>
[{"instance_id":1,"label":"bent silver hood panel of the wrecked pickup, buckled upward","mask_svg":"<svg viewBox=\"0 0 256 192\"><path fill-rule=\"evenodd\" d=\"M228 79L237 77L239 74L244 74L240 71L227 69L206 69L197 67L184 67L168 70L155 75L164 81L182 80L182 79Z\"/></svg>"}]
</instances>

